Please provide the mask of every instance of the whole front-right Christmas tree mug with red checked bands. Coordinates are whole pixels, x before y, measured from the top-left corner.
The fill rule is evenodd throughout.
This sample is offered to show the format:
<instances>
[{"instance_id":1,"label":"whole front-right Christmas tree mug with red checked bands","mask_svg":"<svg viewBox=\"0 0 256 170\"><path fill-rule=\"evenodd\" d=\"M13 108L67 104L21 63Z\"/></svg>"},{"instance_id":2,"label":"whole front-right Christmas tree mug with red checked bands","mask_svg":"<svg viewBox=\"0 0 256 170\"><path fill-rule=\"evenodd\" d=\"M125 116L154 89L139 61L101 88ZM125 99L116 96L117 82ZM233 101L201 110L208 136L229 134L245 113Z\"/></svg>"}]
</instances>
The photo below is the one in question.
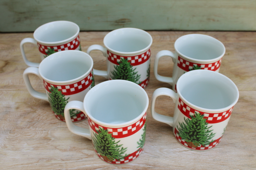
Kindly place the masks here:
<instances>
[{"instance_id":1,"label":"whole front-right Christmas tree mug with red checked bands","mask_svg":"<svg viewBox=\"0 0 256 170\"><path fill-rule=\"evenodd\" d=\"M155 112L156 97L166 95L175 103L173 117ZM236 85L226 76L210 70L193 70L183 74L177 82L177 93L159 88L151 101L152 117L173 127L180 144L196 150L214 148L228 125L238 100Z\"/></svg>"}]
</instances>

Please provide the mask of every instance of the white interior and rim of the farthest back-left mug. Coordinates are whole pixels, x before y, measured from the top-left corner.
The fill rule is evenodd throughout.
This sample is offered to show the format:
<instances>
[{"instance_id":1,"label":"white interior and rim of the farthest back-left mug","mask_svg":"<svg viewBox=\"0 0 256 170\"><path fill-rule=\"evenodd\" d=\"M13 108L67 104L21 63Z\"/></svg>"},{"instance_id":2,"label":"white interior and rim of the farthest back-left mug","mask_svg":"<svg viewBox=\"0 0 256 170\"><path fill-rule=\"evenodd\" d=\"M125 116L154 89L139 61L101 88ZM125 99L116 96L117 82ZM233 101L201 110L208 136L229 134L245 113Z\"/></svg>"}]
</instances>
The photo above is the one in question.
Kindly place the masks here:
<instances>
[{"instance_id":1,"label":"white interior and rim of the farthest back-left mug","mask_svg":"<svg viewBox=\"0 0 256 170\"><path fill-rule=\"evenodd\" d=\"M70 21L53 21L36 29L34 38L41 43L60 43L75 39L79 33L79 26Z\"/></svg>"}]
</instances>

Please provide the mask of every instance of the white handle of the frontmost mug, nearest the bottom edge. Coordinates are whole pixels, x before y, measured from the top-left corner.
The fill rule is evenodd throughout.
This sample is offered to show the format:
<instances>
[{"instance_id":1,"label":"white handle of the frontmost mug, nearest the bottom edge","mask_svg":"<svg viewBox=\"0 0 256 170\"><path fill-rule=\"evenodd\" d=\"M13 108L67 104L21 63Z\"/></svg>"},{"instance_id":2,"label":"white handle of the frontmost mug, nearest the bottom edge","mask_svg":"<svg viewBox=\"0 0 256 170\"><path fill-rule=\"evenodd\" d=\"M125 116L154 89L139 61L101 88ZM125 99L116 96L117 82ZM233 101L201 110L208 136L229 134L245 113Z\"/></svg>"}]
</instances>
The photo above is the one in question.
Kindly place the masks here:
<instances>
[{"instance_id":1,"label":"white handle of the frontmost mug, nearest the bottom edge","mask_svg":"<svg viewBox=\"0 0 256 170\"><path fill-rule=\"evenodd\" d=\"M88 139L92 140L92 137L91 137L91 132L89 129L86 129L86 128L81 128L79 126L76 126L72 121L71 121L71 117L70 117L70 113L69 113L69 109L77 109L77 110L80 110L82 111L86 116L86 112L84 110L84 105L83 105L83 102L81 101L70 101L67 103L67 105L65 106L65 109L64 109L64 116L65 116L65 121L66 121L66 124L68 126L68 129L76 134L76 135L80 135L80 136L83 136L83 137L87 137Z\"/></svg>"}]
</instances>

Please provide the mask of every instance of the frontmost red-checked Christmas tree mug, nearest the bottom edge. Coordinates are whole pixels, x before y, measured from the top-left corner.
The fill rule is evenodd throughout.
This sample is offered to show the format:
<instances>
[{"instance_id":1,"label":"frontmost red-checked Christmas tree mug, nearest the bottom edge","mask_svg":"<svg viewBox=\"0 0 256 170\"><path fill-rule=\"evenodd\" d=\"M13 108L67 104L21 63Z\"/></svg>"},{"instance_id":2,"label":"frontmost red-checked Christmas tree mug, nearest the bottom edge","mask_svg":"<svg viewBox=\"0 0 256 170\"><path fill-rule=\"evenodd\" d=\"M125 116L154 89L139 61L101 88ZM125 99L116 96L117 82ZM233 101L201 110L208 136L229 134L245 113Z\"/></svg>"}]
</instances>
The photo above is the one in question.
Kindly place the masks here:
<instances>
[{"instance_id":1,"label":"frontmost red-checked Christmas tree mug, nearest the bottom edge","mask_svg":"<svg viewBox=\"0 0 256 170\"><path fill-rule=\"evenodd\" d=\"M68 102L64 113L68 129L91 139L101 160L121 165L136 159L144 148L147 108L148 95L141 86L127 80L108 80L94 86L84 103ZM74 125L69 109L84 112L89 129Z\"/></svg>"}]
</instances>

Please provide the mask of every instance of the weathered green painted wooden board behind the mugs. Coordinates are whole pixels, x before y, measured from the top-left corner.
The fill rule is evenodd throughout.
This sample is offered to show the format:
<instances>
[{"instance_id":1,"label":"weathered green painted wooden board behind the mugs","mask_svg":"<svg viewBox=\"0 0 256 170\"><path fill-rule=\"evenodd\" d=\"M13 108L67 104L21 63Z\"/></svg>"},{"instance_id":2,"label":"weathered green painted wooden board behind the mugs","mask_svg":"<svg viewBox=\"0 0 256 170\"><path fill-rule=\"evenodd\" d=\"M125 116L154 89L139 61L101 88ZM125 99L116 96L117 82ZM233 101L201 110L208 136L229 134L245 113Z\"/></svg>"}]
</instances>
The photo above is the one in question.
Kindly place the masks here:
<instances>
[{"instance_id":1,"label":"weathered green painted wooden board behind the mugs","mask_svg":"<svg viewBox=\"0 0 256 170\"><path fill-rule=\"evenodd\" d=\"M256 30L255 0L1 0L0 32L28 32L68 20L81 31Z\"/></svg>"}]
</instances>

